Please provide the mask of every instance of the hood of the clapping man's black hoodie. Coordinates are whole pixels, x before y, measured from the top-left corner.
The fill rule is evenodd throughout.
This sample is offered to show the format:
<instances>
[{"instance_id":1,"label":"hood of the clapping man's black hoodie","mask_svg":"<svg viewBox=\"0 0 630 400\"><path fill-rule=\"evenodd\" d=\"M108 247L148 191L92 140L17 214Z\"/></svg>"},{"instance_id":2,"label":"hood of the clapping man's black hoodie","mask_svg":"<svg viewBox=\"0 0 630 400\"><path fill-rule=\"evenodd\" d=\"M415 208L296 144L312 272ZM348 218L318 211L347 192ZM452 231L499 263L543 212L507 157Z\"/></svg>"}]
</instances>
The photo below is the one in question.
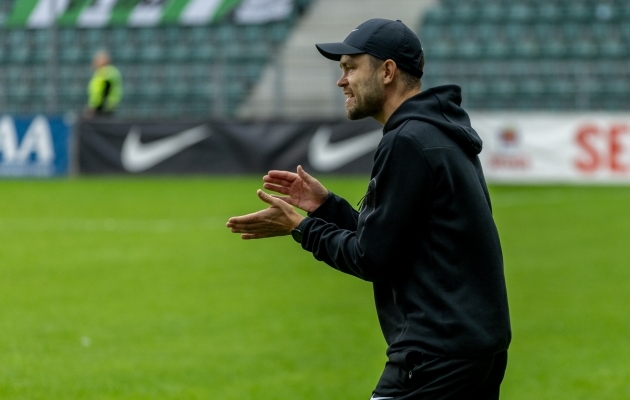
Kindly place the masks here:
<instances>
[{"instance_id":1,"label":"hood of the clapping man's black hoodie","mask_svg":"<svg viewBox=\"0 0 630 400\"><path fill-rule=\"evenodd\" d=\"M481 153L482 141L461 108L462 89L457 85L436 86L405 100L389 117L383 132L398 128L410 119L438 127L468 154Z\"/></svg>"}]
</instances>

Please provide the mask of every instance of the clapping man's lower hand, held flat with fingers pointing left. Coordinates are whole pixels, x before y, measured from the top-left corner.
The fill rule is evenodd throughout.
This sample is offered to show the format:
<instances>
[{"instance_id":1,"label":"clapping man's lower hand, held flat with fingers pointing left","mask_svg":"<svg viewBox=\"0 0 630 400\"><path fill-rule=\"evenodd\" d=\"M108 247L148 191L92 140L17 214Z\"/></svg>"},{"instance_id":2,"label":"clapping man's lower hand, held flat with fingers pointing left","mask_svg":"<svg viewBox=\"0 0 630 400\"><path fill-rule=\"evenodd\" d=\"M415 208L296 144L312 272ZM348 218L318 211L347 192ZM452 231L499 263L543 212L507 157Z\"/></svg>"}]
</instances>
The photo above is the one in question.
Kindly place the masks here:
<instances>
[{"instance_id":1,"label":"clapping man's lower hand, held flat with fingers pointing left","mask_svg":"<svg viewBox=\"0 0 630 400\"><path fill-rule=\"evenodd\" d=\"M269 208L252 214L232 217L226 226L232 233L240 233L242 239L263 239L290 235L304 219L290 204L258 189L258 197Z\"/></svg>"}]
</instances>

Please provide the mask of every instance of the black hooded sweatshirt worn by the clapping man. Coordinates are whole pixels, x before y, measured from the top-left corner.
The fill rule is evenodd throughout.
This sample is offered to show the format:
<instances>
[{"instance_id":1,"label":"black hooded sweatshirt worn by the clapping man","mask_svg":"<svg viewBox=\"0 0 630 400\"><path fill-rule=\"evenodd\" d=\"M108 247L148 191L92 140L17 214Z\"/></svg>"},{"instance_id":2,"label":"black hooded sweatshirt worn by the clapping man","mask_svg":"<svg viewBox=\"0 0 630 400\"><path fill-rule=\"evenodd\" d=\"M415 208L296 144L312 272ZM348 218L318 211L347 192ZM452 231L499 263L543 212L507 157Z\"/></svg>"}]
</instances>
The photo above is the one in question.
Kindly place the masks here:
<instances>
[{"instance_id":1,"label":"black hooded sweatshirt worn by the clapping man","mask_svg":"<svg viewBox=\"0 0 630 400\"><path fill-rule=\"evenodd\" d=\"M299 226L302 247L373 282L387 353L476 358L511 339L501 245L458 86L389 118L360 212L330 194Z\"/></svg>"}]
</instances>

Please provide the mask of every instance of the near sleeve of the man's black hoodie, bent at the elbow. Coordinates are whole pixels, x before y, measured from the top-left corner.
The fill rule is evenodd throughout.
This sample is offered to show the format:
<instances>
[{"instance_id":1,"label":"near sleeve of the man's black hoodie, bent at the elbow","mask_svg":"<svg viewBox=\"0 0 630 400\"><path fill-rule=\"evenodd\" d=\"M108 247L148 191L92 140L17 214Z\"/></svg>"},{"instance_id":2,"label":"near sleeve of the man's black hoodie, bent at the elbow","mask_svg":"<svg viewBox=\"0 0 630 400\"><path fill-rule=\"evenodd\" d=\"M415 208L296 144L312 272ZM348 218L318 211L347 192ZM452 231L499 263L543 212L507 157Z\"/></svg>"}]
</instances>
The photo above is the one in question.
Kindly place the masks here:
<instances>
[{"instance_id":1,"label":"near sleeve of the man's black hoodie, bent at the elbow","mask_svg":"<svg viewBox=\"0 0 630 400\"><path fill-rule=\"evenodd\" d=\"M371 282L395 274L426 231L432 176L422 152L397 133L379 146L356 232L319 218L300 224L302 248Z\"/></svg>"}]
</instances>

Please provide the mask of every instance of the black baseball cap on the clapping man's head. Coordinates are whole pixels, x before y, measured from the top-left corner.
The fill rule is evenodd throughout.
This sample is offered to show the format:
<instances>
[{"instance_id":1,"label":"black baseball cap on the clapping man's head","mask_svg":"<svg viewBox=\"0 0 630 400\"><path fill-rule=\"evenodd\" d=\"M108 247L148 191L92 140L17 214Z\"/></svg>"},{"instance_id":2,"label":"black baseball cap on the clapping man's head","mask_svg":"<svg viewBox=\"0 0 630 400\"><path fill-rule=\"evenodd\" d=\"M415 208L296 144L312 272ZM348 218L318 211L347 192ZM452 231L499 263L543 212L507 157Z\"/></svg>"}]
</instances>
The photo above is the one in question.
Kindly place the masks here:
<instances>
[{"instance_id":1,"label":"black baseball cap on the clapping man's head","mask_svg":"<svg viewBox=\"0 0 630 400\"><path fill-rule=\"evenodd\" d=\"M343 55L368 53L381 60L391 59L398 68L422 78L422 45L418 36L400 20L370 19L350 32L341 43L315 46L329 60L339 61Z\"/></svg>"}]
</instances>

